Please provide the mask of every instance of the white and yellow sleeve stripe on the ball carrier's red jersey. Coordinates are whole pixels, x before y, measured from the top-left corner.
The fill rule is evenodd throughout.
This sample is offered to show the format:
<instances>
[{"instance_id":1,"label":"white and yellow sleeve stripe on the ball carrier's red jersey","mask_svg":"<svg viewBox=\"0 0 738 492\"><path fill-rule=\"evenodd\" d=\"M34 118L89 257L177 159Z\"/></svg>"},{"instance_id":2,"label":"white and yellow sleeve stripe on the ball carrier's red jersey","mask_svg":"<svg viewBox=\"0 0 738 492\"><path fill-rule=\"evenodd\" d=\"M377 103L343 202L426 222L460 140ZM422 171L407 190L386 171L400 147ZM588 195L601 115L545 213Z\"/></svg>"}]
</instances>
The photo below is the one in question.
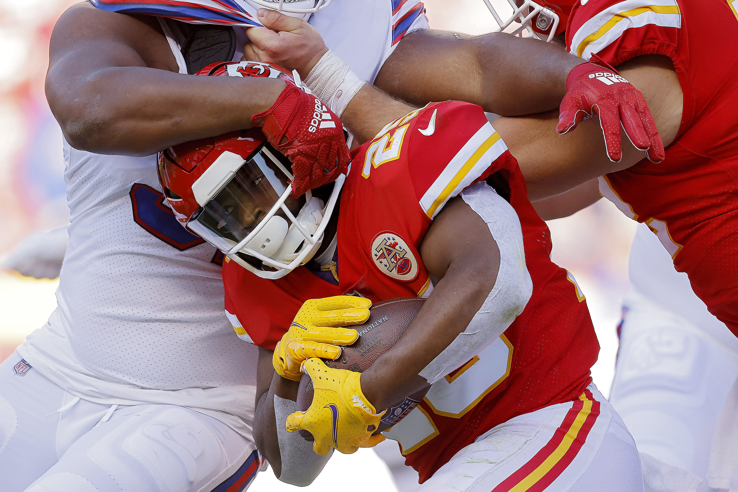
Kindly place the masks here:
<instances>
[{"instance_id":1,"label":"white and yellow sleeve stripe on the ball carrier's red jersey","mask_svg":"<svg viewBox=\"0 0 738 492\"><path fill-rule=\"evenodd\" d=\"M492 125L489 122L482 125L420 199L420 206L426 215L434 218L449 198L472 184L506 150L507 145Z\"/></svg>"}]
</instances>

